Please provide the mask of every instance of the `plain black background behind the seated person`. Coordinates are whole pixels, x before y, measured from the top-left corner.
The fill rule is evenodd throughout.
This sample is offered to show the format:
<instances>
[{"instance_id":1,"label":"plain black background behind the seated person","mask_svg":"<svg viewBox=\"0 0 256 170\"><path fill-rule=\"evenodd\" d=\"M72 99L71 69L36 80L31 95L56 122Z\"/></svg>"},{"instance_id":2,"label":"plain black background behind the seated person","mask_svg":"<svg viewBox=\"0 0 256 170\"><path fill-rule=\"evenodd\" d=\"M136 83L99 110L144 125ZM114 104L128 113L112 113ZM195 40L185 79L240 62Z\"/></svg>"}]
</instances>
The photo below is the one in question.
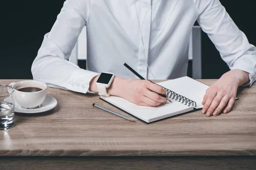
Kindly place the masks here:
<instances>
[{"instance_id":1,"label":"plain black background behind the seated person","mask_svg":"<svg viewBox=\"0 0 256 170\"><path fill-rule=\"evenodd\" d=\"M65 0L7 0L0 6L0 79L32 79L31 65ZM220 0L249 42L256 45L254 0ZM202 34L202 77L229 71L215 46ZM82 65L79 65L84 67Z\"/></svg>"}]
</instances>

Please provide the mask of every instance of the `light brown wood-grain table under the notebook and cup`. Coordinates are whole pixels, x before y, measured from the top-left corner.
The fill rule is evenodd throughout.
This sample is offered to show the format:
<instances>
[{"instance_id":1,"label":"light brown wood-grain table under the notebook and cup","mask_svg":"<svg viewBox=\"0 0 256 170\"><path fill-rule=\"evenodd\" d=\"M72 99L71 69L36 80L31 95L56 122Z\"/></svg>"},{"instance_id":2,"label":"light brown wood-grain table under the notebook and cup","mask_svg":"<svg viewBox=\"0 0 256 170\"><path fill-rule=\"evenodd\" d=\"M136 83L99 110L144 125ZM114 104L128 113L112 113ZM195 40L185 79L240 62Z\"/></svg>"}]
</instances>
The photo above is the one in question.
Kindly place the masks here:
<instances>
[{"instance_id":1,"label":"light brown wood-grain table under the notebook and cup","mask_svg":"<svg viewBox=\"0 0 256 170\"><path fill-rule=\"evenodd\" d=\"M95 102L126 115L98 95L47 93L57 99L56 108L16 113L16 126L0 131L1 170L256 169L256 85L240 88L226 115L197 111L149 125L94 108Z\"/></svg>"}]
</instances>

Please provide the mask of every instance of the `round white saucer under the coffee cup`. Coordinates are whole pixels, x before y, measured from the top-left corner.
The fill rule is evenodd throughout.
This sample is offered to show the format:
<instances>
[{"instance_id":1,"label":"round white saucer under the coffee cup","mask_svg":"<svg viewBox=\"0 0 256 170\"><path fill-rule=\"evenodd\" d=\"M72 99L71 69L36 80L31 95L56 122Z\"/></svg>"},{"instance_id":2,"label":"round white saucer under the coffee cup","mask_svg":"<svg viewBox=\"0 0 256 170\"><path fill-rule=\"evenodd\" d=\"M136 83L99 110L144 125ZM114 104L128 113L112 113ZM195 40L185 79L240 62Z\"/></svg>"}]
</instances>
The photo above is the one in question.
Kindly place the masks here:
<instances>
[{"instance_id":1,"label":"round white saucer under the coffee cup","mask_svg":"<svg viewBox=\"0 0 256 170\"><path fill-rule=\"evenodd\" d=\"M10 102L10 97L7 97L6 99L4 99L5 102ZM44 102L40 105L40 107L35 108L35 109L25 109L22 108L16 101L15 101L15 112L18 113L41 113L41 112L45 112L45 111L49 111L53 108L55 108L55 106L57 105L57 100L49 95L46 95Z\"/></svg>"}]
</instances>

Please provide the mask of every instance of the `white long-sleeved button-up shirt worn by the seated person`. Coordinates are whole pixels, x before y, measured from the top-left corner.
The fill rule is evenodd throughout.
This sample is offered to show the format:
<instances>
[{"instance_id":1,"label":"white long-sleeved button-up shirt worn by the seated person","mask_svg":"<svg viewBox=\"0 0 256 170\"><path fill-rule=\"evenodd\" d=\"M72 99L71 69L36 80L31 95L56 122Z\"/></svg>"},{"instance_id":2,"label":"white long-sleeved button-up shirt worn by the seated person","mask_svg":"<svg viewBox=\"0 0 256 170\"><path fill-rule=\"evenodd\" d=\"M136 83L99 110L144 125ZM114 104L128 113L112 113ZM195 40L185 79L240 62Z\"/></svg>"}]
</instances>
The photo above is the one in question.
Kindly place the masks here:
<instances>
[{"instance_id":1,"label":"white long-sleeved button-up shirt worn by the seated person","mask_svg":"<svg viewBox=\"0 0 256 170\"><path fill-rule=\"evenodd\" d=\"M137 78L125 62L147 79L186 76L196 20L230 69L247 71L252 85L256 48L219 0L67 0L44 36L33 77L51 87L86 93L90 80L102 71ZM87 70L67 61L84 26Z\"/></svg>"}]
</instances>

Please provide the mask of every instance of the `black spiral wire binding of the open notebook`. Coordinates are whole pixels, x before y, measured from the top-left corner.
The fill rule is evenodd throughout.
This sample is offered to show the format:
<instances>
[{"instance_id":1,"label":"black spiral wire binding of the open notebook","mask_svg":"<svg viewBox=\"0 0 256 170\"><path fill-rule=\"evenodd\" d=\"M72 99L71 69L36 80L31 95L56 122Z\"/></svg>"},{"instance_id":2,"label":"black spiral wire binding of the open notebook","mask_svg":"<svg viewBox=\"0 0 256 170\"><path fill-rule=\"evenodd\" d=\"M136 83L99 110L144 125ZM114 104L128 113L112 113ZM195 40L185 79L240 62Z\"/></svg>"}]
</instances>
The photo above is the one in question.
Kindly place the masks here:
<instances>
[{"instance_id":1,"label":"black spiral wire binding of the open notebook","mask_svg":"<svg viewBox=\"0 0 256 170\"><path fill-rule=\"evenodd\" d=\"M151 80L149 80L149 81L152 82ZM154 83L154 82L152 82L152 83ZM158 85L157 83L154 83L154 84ZM166 93L169 96L169 98L175 99L175 97L176 97L176 99L175 99L176 101L179 100L178 102L181 102L181 103L185 102L185 105L187 105L187 104L189 104L188 106L190 106L190 105L194 106L195 105L195 107L196 107L196 102L195 101L190 100L190 99L186 98L185 96L181 96L180 94L177 94L174 91L171 91L168 88L165 88L161 85L159 85L159 86L166 90Z\"/></svg>"}]
</instances>

